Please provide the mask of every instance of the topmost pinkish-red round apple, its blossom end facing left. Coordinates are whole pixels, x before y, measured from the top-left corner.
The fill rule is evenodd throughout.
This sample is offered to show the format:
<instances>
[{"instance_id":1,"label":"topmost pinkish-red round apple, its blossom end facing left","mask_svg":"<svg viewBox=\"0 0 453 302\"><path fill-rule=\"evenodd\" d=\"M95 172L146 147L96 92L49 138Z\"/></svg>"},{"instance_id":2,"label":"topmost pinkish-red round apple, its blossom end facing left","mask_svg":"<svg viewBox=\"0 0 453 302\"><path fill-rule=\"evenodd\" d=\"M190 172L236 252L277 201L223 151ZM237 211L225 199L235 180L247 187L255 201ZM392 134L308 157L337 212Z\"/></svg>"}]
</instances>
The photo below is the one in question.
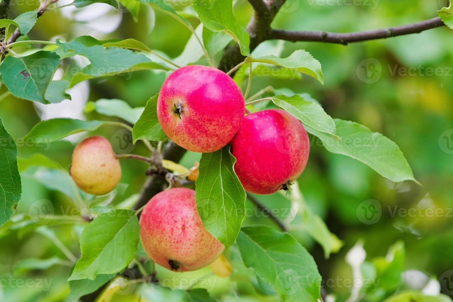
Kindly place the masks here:
<instances>
[{"instance_id":1,"label":"topmost pinkish-red round apple, its blossom end facing left","mask_svg":"<svg viewBox=\"0 0 453 302\"><path fill-rule=\"evenodd\" d=\"M164 81L157 117L165 134L194 152L213 152L230 142L242 124L244 97L236 83L216 68L178 68Z\"/></svg>"}]
</instances>

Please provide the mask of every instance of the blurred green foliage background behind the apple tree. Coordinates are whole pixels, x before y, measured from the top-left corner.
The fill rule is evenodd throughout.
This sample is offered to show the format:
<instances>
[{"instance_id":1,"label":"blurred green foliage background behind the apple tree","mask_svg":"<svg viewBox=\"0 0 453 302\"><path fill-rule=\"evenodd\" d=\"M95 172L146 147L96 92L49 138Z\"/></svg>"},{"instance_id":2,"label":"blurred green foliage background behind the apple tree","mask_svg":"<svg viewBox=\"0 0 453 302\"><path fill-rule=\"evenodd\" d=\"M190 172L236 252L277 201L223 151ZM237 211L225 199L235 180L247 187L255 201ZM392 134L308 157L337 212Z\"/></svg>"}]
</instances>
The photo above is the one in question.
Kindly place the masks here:
<instances>
[{"instance_id":1,"label":"blurred green foliage background behind the apple tree","mask_svg":"<svg viewBox=\"0 0 453 302\"><path fill-rule=\"evenodd\" d=\"M359 1L361 5L345 5L349 1L289 0L290 5L277 15L273 27L292 30L324 30L352 32L408 24L433 18L447 1L442 0L393 0ZM14 2L14 0L13 0ZM187 1L177 0L172 4L178 10L190 12ZM16 4L10 9L11 19L18 14L32 10L35 6ZM328 5L330 3L333 5ZM365 4L366 3L366 4ZM63 2L64 4L64 2ZM190 32L170 16L151 8L141 6L138 23L131 14L119 13L109 5L96 4L74 11L72 7L46 12L29 33L36 40L50 40L55 37L69 40L79 35L90 34L95 38L135 38L150 48L175 58L182 53ZM251 5L245 0L235 1L236 19L246 25L252 14ZM194 27L198 19L190 18ZM327 43L290 43L272 41L266 43L265 51L281 50L287 56L295 49L305 49L321 62L325 85L309 77L302 80L284 80L273 77L254 77L251 94L271 85L274 88L289 88L296 93L308 92L318 100L324 110L333 118L353 120L366 125L372 131L380 132L400 146L410 163L415 178L423 185L412 182L392 183L353 159L328 153L317 144L311 146L308 166L299 179L299 187L305 201L314 212L323 217L329 230L342 240L344 246L326 259L319 244L295 227L292 233L313 255L319 272L325 280L338 280L324 286L328 299L345 301L351 294L351 287L345 280L352 277L352 269L345 257L357 243L362 242L366 260L379 268L390 266L396 281L386 278L389 284L378 290L362 291L361 301L382 301L385 297L405 288L422 289L429 278L438 280L453 269L453 48L452 31L446 27L432 29L386 40L354 43L348 46ZM266 50L267 49L267 50ZM279 51L280 51L279 50ZM367 61L364 61L367 60ZM374 63L377 69L371 68ZM65 61L65 66L77 66L80 62ZM366 68L363 69L362 66ZM426 69L438 70L431 74ZM367 69L368 68L368 69ZM402 68L402 69L401 69ZM411 68L411 69L409 69ZM394 70L402 72L394 73ZM412 71L405 74L404 70ZM373 71L378 73L374 74ZM367 75L364 72L369 72ZM380 73L380 75L379 75ZM57 72L58 74L58 72ZM84 113L87 101L100 98L118 98L131 106L144 106L150 96L159 91L168 73L159 71L135 72L129 76L101 78L80 83L69 92L72 101L62 104L39 106L32 102L9 97L0 103L0 118L5 128L15 138L21 138L41 119L71 116L84 119L111 120L96 113ZM372 77L367 77L367 76ZM64 77L64 74L63 74ZM242 88L245 89L246 82ZM5 88L2 88L3 92ZM96 134L111 138L117 152L121 149L116 137L117 128L102 128ZM19 157L27 158L34 153L43 153L69 168L71 153L77 141L87 134L68 140L53 142L49 148L17 144ZM310 137L312 138L312 137ZM130 146L125 152L147 155L141 143ZM188 168L199 160L200 155L186 153L182 164ZM122 161L124 186L118 189L113 203L119 203L140 191L146 179L146 164ZM47 185L43 183L48 182ZM58 182L57 182L58 181ZM61 187L67 183L58 175L46 171L27 169L22 172L23 194L16 215L28 215L32 205L50 201L55 215L63 214L60 206L71 207L72 202ZM49 182L51 183L49 185ZM64 189L63 189L64 191ZM272 208L288 207L288 199L276 194L259 197ZM369 200L381 206L379 219L372 224L361 222L361 206ZM44 200L44 201L43 201ZM368 202L368 203L367 203ZM247 206L252 208L251 203ZM396 209L438 208L441 215L407 215ZM398 214L399 213L399 214ZM419 213L419 212L417 212ZM47 259L54 255L64 258L62 251L52 240L41 234L43 231L20 232L10 226L14 221L0 228L0 278L46 278L52 280L48 290L42 287L0 287L1 301L62 301L69 291L66 279L70 267L53 265L46 270L20 269L20 262L29 258ZM266 217L247 217L244 225L270 224ZM39 226L39 225L35 225ZM78 235L81 225L58 222L48 225L59 240L72 252L80 254ZM386 256L390 246L405 251L398 261ZM230 278L214 278L215 286L210 288L213 297L219 301L278 301L276 295L266 295L253 273L241 266L238 252L233 246L227 253L235 272ZM390 255L392 255L390 253ZM393 257L395 260L397 256ZM390 264L385 264L385 262ZM387 268L382 268L386 271ZM365 268L362 268L364 272ZM410 270L416 282L401 280L400 273ZM417 270L419 272L415 272ZM158 268L159 277L204 278L208 268L193 273L164 271ZM376 274L376 272L374 272ZM365 273L364 273L365 274ZM453 273L448 275L451 278ZM385 275L385 274L384 274ZM414 276L423 276L416 278ZM412 278L411 277L411 278ZM254 279L255 278L255 279ZM424 278L426 278L425 281ZM390 280L390 281L389 281ZM411 279L412 280L412 279ZM420 281L422 280L422 281ZM418 282L418 283L417 283ZM413 283L417 283L415 286ZM423 283L423 284L422 284ZM421 284L421 285L420 285ZM178 282L170 285L178 288ZM441 282L441 290L453 294L448 284ZM365 294L366 292L366 294ZM267 292L269 293L269 292ZM116 295L116 301L137 301L138 295ZM127 300L129 299L129 300ZM153 300L149 300L153 301ZM326 300L334 301L334 300ZM433 300L435 301L435 300ZM439 300L440 301L440 300Z\"/></svg>"}]
</instances>

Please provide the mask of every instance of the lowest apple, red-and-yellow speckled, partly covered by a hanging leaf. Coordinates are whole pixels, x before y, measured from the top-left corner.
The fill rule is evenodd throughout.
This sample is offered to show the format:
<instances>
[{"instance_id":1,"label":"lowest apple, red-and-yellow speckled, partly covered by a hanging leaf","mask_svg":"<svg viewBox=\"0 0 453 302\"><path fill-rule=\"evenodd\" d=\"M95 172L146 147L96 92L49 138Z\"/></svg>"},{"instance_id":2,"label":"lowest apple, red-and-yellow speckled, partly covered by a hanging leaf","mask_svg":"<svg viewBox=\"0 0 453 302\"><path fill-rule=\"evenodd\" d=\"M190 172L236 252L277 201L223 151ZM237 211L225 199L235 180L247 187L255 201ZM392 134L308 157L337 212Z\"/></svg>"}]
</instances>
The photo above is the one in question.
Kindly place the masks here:
<instances>
[{"instance_id":1,"label":"lowest apple, red-and-yellow speckled, partly covered by a hanging leaf","mask_svg":"<svg viewBox=\"0 0 453 302\"><path fill-rule=\"evenodd\" d=\"M193 271L214 262L225 247L204 228L195 191L173 188L151 198L140 216L140 238L155 263Z\"/></svg>"}]
</instances>

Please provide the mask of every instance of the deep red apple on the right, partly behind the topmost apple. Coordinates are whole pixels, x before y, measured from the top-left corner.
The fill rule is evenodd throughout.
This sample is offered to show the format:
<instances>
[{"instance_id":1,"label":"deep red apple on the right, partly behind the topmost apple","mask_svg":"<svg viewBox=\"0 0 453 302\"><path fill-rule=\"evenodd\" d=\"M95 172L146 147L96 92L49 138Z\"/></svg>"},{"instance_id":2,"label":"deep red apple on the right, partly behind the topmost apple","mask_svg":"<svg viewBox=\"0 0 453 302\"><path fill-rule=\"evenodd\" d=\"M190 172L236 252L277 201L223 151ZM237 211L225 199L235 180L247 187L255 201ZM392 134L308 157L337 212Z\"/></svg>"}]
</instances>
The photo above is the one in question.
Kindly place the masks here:
<instances>
[{"instance_id":1,"label":"deep red apple on the right, partly behind the topmost apple","mask_svg":"<svg viewBox=\"0 0 453 302\"><path fill-rule=\"evenodd\" d=\"M248 192L288 190L304 171L310 152L307 132L293 115L280 109L245 117L231 141L237 177Z\"/></svg>"}]
</instances>

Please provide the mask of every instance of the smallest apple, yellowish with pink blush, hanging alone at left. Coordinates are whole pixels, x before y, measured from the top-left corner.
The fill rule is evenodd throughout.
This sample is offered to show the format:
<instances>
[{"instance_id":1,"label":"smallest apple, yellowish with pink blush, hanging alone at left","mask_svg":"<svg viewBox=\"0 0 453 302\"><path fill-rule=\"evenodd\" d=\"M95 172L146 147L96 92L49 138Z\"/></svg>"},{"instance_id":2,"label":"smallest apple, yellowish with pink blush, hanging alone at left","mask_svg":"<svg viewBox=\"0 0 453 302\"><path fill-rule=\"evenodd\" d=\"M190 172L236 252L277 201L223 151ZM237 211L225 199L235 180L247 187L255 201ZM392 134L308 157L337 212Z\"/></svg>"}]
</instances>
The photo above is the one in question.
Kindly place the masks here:
<instances>
[{"instance_id":1,"label":"smallest apple, yellowish with pink blush, hanging alone at left","mask_svg":"<svg viewBox=\"0 0 453 302\"><path fill-rule=\"evenodd\" d=\"M92 136L77 144L72 152L71 177L83 191L103 195L121 179L121 166L108 139Z\"/></svg>"}]
</instances>

